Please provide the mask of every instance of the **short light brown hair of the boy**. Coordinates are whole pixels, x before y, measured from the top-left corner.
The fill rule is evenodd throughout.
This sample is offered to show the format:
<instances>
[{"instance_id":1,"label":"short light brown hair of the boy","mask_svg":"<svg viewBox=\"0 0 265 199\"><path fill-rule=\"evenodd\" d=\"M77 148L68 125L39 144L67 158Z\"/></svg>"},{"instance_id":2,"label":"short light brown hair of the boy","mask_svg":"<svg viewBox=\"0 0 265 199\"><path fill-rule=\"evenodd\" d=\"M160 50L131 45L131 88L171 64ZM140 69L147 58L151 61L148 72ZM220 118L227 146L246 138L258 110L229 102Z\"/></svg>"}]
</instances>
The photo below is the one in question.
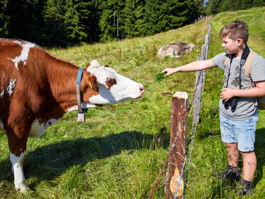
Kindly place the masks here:
<instances>
[{"instance_id":1,"label":"short light brown hair of the boy","mask_svg":"<svg viewBox=\"0 0 265 199\"><path fill-rule=\"evenodd\" d=\"M219 32L220 39L224 39L226 36L233 41L242 39L243 43L246 44L249 39L249 26L243 21L233 21L223 27Z\"/></svg>"}]
</instances>

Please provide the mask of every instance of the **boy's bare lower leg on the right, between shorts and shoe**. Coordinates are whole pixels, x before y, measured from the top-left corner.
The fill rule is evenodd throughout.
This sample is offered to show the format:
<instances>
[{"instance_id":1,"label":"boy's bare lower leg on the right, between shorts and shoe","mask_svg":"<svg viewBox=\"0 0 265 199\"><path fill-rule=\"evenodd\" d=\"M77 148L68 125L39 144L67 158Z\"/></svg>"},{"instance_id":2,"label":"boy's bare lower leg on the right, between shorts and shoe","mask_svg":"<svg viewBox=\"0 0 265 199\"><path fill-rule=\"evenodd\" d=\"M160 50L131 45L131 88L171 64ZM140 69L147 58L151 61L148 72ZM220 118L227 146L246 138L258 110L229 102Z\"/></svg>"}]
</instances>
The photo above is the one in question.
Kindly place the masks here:
<instances>
[{"instance_id":1,"label":"boy's bare lower leg on the right, between shorts and shoe","mask_svg":"<svg viewBox=\"0 0 265 199\"><path fill-rule=\"evenodd\" d=\"M240 151L243 159L243 179L247 181L252 181L254 178L257 158L254 151L242 152Z\"/></svg>"}]
</instances>

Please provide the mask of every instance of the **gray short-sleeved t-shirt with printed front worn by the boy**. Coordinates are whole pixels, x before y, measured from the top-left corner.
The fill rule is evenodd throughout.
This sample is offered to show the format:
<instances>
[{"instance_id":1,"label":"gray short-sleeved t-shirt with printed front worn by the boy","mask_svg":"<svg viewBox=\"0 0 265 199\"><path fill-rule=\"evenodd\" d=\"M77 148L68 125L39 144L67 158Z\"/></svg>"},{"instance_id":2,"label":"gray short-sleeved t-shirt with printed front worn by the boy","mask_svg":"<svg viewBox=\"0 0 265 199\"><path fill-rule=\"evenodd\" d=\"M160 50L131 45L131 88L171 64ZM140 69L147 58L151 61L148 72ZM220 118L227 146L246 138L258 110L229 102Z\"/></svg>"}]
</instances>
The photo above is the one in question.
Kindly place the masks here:
<instances>
[{"instance_id":1,"label":"gray short-sleeved t-shirt with printed front worn by the boy","mask_svg":"<svg viewBox=\"0 0 265 199\"><path fill-rule=\"evenodd\" d=\"M250 49L250 52L252 50ZM227 53L220 53L215 57L211 58L213 64L217 67L222 68L225 71L224 74L224 86L226 88L227 77L229 73L230 60L227 62L224 67L224 60L226 59ZM239 72L240 72L240 60L233 57L231 68L230 68L230 76L228 80L228 88L239 89ZM253 81L263 81L265 80L265 59L258 55L253 58L251 62L251 77ZM241 68L241 89L249 89L252 88L251 81L249 77L245 73L245 65ZM255 112L255 98L245 98L240 97L238 99L237 107L235 112L232 113L230 101L228 101L229 108L226 110L223 100L219 101L219 111L220 114L225 116L226 118L230 118L232 120L244 121L251 118Z\"/></svg>"}]
</instances>

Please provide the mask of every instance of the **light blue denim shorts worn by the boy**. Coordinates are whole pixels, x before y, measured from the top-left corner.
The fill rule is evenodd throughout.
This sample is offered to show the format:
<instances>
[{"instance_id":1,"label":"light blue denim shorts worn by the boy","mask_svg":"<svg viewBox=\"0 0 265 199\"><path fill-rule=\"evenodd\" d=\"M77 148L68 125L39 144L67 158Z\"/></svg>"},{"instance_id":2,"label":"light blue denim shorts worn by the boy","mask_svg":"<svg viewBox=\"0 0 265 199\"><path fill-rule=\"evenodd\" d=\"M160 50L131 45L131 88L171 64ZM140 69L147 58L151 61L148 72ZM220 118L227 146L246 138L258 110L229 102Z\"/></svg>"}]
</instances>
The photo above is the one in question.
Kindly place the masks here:
<instances>
[{"instance_id":1,"label":"light blue denim shorts worn by the boy","mask_svg":"<svg viewBox=\"0 0 265 199\"><path fill-rule=\"evenodd\" d=\"M238 150L242 152L253 151L257 123L258 109L244 121L231 120L220 114L221 139L225 143L237 143Z\"/></svg>"}]
</instances>

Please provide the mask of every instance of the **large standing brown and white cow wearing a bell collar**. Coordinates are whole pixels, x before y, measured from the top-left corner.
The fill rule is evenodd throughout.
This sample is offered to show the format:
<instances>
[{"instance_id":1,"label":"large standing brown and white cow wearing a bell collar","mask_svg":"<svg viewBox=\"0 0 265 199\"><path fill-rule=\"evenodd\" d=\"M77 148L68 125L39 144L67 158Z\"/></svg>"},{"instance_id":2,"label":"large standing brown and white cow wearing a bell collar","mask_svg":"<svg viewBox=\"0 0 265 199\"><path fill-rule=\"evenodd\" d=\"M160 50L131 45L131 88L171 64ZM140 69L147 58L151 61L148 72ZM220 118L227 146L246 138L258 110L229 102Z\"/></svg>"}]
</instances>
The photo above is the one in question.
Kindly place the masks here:
<instances>
[{"instance_id":1,"label":"large standing brown and white cow wearing a bell collar","mask_svg":"<svg viewBox=\"0 0 265 199\"><path fill-rule=\"evenodd\" d=\"M38 137L66 112L77 110L79 68L39 46L0 39L0 130L6 132L16 190L30 189L23 174L28 137ZM82 72L81 108L137 99L144 86L94 60Z\"/></svg>"}]
</instances>

